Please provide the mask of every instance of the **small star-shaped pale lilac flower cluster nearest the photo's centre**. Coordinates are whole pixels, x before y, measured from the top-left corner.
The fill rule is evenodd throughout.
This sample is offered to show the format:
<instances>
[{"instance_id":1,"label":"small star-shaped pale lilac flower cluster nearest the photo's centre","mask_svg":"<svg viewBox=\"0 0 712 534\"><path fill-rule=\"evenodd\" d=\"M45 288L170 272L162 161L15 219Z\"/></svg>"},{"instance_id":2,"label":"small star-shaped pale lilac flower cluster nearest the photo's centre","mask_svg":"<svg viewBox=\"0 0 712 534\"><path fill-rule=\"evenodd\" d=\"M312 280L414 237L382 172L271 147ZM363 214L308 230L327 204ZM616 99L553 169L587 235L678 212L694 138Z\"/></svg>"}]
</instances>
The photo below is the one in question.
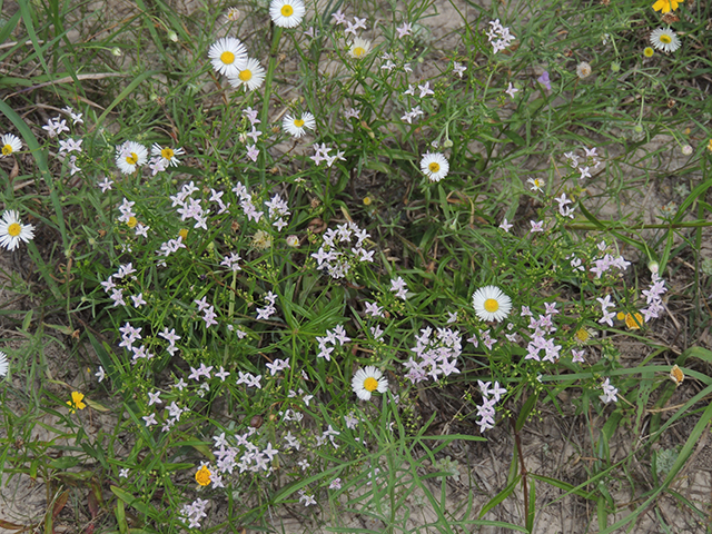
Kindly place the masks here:
<instances>
[{"instance_id":1,"label":"small star-shaped pale lilac flower cluster nearest the photo's centre","mask_svg":"<svg viewBox=\"0 0 712 534\"><path fill-rule=\"evenodd\" d=\"M312 254L317 261L317 269L340 279L347 277L355 265L373 263L375 250L364 248L369 237L370 234L352 221L328 228L322 236L319 249Z\"/></svg>"}]
</instances>

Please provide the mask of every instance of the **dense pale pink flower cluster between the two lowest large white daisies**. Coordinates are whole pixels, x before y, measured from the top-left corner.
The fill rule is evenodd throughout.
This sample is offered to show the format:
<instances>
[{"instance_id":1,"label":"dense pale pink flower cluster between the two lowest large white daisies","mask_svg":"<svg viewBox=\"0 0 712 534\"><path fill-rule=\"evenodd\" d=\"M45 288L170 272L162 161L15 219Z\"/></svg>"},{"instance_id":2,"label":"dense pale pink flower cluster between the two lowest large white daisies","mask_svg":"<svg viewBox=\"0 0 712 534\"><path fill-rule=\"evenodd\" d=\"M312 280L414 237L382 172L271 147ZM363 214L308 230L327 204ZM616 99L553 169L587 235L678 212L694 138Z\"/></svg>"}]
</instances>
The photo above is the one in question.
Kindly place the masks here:
<instances>
[{"instance_id":1,"label":"dense pale pink flower cluster between the two lowest large white daisies","mask_svg":"<svg viewBox=\"0 0 712 534\"><path fill-rule=\"evenodd\" d=\"M435 335L433 335L435 334ZM407 369L405 375L412 384L417 384L425 379L437 382L443 376L459 373L457 358L463 352L462 336L452 328L425 327L421 329L421 335L415 337L415 347L411 356L403 364Z\"/></svg>"}]
</instances>

